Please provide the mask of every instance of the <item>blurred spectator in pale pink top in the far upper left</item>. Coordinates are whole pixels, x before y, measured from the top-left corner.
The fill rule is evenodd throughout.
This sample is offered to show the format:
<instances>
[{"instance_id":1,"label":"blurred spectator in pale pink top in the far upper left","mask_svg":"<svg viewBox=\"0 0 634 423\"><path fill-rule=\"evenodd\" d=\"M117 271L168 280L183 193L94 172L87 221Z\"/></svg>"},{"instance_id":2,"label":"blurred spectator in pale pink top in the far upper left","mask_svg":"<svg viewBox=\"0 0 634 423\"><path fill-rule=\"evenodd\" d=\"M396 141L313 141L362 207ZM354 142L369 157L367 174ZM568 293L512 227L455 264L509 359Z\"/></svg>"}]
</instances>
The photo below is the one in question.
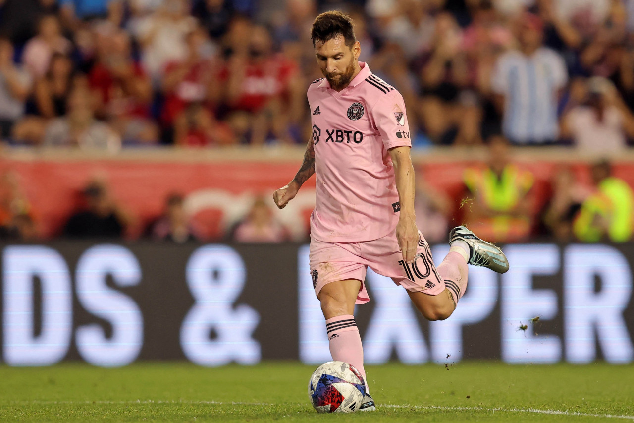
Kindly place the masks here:
<instances>
[{"instance_id":1,"label":"blurred spectator in pale pink top in the far upper left","mask_svg":"<svg viewBox=\"0 0 634 423\"><path fill-rule=\"evenodd\" d=\"M39 79L46 74L55 53L68 55L72 44L61 35L60 22L55 15L40 18L37 35L29 40L22 53L22 63L31 76Z\"/></svg>"}]
</instances>

